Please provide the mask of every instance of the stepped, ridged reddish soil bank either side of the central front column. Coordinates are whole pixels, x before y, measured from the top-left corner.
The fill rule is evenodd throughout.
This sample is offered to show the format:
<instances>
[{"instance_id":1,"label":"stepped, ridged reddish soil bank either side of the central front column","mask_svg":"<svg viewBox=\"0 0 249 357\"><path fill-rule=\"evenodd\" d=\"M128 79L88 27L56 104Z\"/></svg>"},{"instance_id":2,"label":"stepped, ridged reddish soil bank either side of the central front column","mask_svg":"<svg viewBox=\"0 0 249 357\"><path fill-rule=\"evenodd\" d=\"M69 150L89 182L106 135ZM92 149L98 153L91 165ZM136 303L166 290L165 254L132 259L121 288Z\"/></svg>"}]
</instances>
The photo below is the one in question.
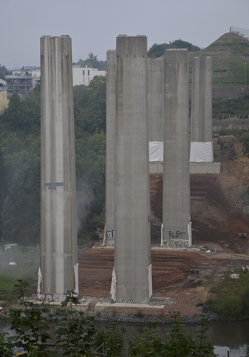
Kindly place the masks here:
<instances>
[{"instance_id":1,"label":"stepped, ridged reddish soil bank either side of the central front column","mask_svg":"<svg viewBox=\"0 0 249 357\"><path fill-rule=\"evenodd\" d=\"M94 297L109 297L114 250L112 248L90 249L78 258L80 266L80 294ZM205 262L197 252L167 252L152 250L152 280L154 295L164 297L169 284L180 282L190 270Z\"/></svg>"}]
</instances>

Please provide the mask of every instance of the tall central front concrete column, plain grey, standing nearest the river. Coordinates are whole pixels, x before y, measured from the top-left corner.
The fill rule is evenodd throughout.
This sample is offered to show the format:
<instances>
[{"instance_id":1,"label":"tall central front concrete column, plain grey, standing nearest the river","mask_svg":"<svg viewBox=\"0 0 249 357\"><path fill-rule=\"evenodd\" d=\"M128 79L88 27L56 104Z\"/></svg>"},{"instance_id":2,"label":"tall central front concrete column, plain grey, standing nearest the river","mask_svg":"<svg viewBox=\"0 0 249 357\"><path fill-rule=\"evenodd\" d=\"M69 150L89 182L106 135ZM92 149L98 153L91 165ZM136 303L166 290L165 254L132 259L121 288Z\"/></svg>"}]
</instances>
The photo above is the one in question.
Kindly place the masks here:
<instances>
[{"instance_id":1,"label":"tall central front concrete column, plain grey, standing nearest the river","mask_svg":"<svg viewBox=\"0 0 249 357\"><path fill-rule=\"evenodd\" d=\"M147 37L117 37L117 302L148 302Z\"/></svg>"}]
</instances>

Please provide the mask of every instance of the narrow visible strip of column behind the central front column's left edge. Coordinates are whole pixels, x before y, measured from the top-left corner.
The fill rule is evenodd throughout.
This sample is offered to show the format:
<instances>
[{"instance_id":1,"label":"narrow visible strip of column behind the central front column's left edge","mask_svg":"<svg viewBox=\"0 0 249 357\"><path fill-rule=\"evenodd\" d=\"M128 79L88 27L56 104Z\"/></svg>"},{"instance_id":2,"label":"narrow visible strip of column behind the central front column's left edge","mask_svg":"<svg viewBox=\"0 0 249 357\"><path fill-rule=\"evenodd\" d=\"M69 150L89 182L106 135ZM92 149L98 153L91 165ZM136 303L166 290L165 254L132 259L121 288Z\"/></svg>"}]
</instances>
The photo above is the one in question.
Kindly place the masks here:
<instances>
[{"instance_id":1,"label":"narrow visible strip of column behind the central front column's left edge","mask_svg":"<svg viewBox=\"0 0 249 357\"><path fill-rule=\"evenodd\" d=\"M105 224L115 230L116 163L116 50L107 51Z\"/></svg>"}]
</instances>

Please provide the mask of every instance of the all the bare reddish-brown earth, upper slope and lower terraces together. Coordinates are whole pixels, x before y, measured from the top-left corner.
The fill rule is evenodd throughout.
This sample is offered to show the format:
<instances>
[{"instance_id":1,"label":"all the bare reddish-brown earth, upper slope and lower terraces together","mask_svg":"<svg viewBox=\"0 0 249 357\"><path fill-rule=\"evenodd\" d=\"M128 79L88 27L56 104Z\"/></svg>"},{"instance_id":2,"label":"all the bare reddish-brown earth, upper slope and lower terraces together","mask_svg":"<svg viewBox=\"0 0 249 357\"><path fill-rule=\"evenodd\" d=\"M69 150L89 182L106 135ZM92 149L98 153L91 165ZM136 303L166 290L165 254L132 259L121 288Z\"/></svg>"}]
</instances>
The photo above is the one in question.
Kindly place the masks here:
<instances>
[{"instance_id":1,"label":"all the bare reddish-brown earth, upper slope and lower terraces together","mask_svg":"<svg viewBox=\"0 0 249 357\"><path fill-rule=\"evenodd\" d=\"M192 250L160 249L162 175L150 175L152 246L158 248L152 249L152 302L165 307L139 309L144 315L168 319L169 311L180 311L183 317L196 316L202 309L196 304L206 301L211 284L221 281L224 271L249 265L249 238L238 237L249 235L249 158L238 140L228 138L216 161L221 162L221 174L190 178ZM114 249L86 249L78 260L80 295L92 298L93 310L100 300L110 299ZM132 307L107 311L138 313Z\"/></svg>"}]
</instances>

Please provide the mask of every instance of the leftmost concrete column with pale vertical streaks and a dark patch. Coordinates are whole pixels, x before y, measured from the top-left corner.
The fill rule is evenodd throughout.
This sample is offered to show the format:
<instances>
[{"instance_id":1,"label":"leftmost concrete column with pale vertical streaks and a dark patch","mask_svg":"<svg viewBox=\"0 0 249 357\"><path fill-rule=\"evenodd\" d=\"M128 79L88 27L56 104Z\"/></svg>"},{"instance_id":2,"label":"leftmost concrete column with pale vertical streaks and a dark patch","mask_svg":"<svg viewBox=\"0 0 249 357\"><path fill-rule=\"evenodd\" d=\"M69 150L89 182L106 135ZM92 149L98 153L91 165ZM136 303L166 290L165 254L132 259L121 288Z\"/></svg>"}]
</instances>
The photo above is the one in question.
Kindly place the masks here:
<instances>
[{"instance_id":1,"label":"leftmost concrete column with pale vertical streaks and a dark patch","mask_svg":"<svg viewBox=\"0 0 249 357\"><path fill-rule=\"evenodd\" d=\"M41 292L74 289L77 263L72 45L41 38Z\"/></svg>"}]
</instances>

